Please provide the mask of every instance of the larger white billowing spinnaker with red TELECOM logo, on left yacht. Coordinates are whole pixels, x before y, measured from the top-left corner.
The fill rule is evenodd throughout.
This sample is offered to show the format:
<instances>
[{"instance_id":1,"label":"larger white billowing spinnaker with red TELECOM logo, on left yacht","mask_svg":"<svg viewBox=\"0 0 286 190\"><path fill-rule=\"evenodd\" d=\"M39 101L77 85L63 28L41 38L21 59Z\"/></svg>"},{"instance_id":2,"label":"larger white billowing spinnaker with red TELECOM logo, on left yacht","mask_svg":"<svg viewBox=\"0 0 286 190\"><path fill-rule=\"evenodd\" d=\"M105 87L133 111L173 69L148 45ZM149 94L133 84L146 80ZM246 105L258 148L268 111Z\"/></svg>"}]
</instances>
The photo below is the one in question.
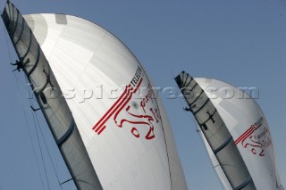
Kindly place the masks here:
<instances>
[{"instance_id":1,"label":"larger white billowing spinnaker with red TELECOM logo, on left yacht","mask_svg":"<svg viewBox=\"0 0 286 190\"><path fill-rule=\"evenodd\" d=\"M78 17L24 18L68 99L103 188L187 189L162 103L130 50Z\"/></svg>"}]
</instances>

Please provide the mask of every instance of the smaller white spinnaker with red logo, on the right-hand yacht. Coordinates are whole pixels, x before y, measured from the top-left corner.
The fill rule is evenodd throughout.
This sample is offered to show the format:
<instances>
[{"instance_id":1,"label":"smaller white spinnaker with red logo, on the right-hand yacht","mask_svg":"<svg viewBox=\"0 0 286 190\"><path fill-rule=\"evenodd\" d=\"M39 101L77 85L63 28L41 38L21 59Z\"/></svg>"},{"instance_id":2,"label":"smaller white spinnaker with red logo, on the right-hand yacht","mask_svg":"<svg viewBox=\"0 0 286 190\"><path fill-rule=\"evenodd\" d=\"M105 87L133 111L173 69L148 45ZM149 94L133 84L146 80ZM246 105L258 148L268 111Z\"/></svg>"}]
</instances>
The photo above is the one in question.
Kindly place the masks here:
<instances>
[{"instance_id":1,"label":"smaller white spinnaker with red logo, on the right-hand yacht","mask_svg":"<svg viewBox=\"0 0 286 190\"><path fill-rule=\"evenodd\" d=\"M195 79L230 130L257 189L283 189L275 167L270 129L257 102L223 81Z\"/></svg>"}]
</instances>

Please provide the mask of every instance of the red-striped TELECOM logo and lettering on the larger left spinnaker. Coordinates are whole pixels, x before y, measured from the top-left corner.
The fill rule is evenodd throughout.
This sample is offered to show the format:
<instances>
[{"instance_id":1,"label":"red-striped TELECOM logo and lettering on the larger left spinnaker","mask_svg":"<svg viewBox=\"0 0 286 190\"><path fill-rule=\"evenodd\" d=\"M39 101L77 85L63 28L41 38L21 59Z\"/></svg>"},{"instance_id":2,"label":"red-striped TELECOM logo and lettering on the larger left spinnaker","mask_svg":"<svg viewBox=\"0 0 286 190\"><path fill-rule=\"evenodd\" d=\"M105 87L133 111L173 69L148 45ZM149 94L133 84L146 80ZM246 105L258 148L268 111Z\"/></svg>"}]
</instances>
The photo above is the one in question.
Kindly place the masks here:
<instances>
[{"instance_id":1,"label":"red-striped TELECOM logo and lettering on the larger left spinnaker","mask_svg":"<svg viewBox=\"0 0 286 190\"><path fill-rule=\"evenodd\" d=\"M151 107L149 109L150 112L148 112L150 114L145 111L146 103L149 101L149 98L154 95L151 85L148 84L149 91L141 100L140 107L139 103L137 103L139 99L134 98L134 100L130 103L132 96L138 92L139 87L143 82L142 71L143 70L139 67L135 73L135 77L132 78L130 85L125 87L124 92L117 99L114 105L100 120L98 120L97 124L92 128L98 135L105 130L106 122L112 119L114 120L114 124L116 124L119 128L122 128L124 125L131 126L130 133L137 138L139 138L140 134L136 126L148 128L147 135L145 136L147 140L155 137L153 122L159 122L161 119L160 114L157 108ZM143 114L138 114L138 112L136 112L137 109L143 109Z\"/></svg>"}]
</instances>

